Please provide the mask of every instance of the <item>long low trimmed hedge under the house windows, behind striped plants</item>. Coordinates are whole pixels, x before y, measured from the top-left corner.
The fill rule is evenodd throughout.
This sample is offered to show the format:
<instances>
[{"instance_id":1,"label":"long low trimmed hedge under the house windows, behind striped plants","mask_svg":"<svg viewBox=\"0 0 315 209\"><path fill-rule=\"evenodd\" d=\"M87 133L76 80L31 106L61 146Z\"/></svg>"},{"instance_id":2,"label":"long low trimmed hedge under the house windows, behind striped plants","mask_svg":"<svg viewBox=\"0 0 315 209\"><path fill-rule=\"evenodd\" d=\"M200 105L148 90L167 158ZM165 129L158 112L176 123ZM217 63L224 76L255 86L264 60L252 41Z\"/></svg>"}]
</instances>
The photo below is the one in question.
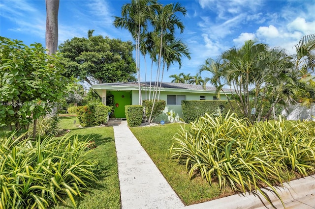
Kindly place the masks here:
<instances>
[{"instance_id":1,"label":"long low trimmed hedge under the house windows, behind striped plants","mask_svg":"<svg viewBox=\"0 0 315 209\"><path fill-rule=\"evenodd\" d=\"M213 101L213 100L192 100L192 101L182 101L182 110L184 115L184 120L186 123L193 122L205 113L221 113L226 114L228 110L234 112L239 117L243 117L240 107L236 101Z\"/></svg>"}]
</instances>

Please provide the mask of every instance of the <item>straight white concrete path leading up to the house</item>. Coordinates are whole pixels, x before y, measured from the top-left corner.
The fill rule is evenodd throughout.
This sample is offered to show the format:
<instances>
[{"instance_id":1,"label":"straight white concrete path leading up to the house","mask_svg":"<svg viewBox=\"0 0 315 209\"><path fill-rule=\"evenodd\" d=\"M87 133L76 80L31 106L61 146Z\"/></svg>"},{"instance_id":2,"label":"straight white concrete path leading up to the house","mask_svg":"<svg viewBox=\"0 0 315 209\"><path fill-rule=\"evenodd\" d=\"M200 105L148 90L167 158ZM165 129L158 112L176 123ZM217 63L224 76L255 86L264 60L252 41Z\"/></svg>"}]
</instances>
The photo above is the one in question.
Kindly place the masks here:
<instances>
[{"instance_id":1,"label":"straight white concrete path leading up to the house","mask_svg":"<svg viewBox=\"0 0 315 209\"><path fill-rule=\"evenodd\" d=\"M179 209L184 204L127 127L114 126L122 209Z\"/></svg>"}]
</instances>

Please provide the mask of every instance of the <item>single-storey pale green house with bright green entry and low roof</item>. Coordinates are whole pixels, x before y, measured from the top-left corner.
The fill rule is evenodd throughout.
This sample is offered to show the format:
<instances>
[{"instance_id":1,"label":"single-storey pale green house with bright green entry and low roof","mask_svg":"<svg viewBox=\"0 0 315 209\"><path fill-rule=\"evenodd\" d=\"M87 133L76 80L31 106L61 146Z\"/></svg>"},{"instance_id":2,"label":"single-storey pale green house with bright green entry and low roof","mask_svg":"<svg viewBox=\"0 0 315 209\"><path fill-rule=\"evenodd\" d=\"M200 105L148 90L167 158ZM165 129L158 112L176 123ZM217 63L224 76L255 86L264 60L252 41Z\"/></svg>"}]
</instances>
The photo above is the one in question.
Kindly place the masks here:
<instances>
[{"instance_id":1,"label":"single-storey pale green house with bright green entry and low roof","mask_svg":"<svg viewBox=\"0 0 315 209\"><path fill-rule=\"evenodd\" d=\"M150 93L150 82L141 82L142 100L152 98L154 82L152 82ZM117 82L117 83L100 83L92 86L97 94L102 98L103 104L106 104L106 98L109 95L114 96L114 115L115 118L126 118L125 106L130 104L139 104L139 87L137 82ZM183 118L182 100L218 100L216 88L207 86L204 89L201 85L186 83L162 82L160 90L160 100L166 101L163 114L156 121L167 120L167 112L175 113L175 121ZM221 100L227 100L231 95L230 89L224 89L220 94Z\"/></svg>"}]
</instances>

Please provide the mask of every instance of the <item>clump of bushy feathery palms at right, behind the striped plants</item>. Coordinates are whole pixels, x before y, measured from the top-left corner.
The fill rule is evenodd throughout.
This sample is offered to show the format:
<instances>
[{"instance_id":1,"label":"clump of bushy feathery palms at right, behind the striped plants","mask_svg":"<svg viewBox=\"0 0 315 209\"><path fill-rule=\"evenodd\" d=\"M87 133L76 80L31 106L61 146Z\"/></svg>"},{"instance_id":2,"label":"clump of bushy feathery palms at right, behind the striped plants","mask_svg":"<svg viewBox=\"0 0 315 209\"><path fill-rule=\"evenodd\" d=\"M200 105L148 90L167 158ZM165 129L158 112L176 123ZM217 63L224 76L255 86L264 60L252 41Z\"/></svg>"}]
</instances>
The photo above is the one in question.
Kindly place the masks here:
<instances>
[{"instance_id":1,"label":"clump of bushy feathery palms at right, behind the striped plants","mask_svg":"<svg viewBox=\"0 0 315 209\"><path fill-rule=\"evenodd\" d=\"M210 82L217 88L217 94L228 85L246 117L252 120L251 110L260 113L255 118L260 121L264 105L269 101L268 115L276 106L283 107L302 102L308 106L315 99L315 85L312 72L315 66L315 34L304 36L296 46L297 54L288 55L283 49L270 49L266 44L248 40L240 48L233 47L222 52L217 61L208 58L200 67L201 72L209 72L204 86ZM224 91L223 91L224 92ZM253 100L253 103L251 103Z\"/></svg>"}]
</instances>

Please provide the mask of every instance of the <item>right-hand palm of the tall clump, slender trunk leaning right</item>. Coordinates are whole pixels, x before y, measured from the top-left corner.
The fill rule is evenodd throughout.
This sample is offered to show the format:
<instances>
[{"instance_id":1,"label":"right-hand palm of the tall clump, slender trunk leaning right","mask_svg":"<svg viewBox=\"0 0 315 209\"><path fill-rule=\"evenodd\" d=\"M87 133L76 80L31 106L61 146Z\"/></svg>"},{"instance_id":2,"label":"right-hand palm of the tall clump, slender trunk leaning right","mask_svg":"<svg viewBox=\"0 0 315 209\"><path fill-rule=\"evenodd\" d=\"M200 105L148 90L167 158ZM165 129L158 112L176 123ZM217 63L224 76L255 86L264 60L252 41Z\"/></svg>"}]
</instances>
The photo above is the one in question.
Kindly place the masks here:
<instances>
[{"instance_id":1,"label":"right-hand palm of the tall clump, slender trunk leaning right","mask_svg":"<svg viewBox=\"0 0 315 209\"><path fill-rule=\"evenodd\" d=\"M184 28L185 28L182 21L175 14L178 12L182 13L185 16L187 13L187 10L185 9L185 7L181 6L180 3L176 3L176 4L170 3L158 9L156 15L151 16L151 22L152 22L152 25L154 26L154 30L158 32L159 38L160 38L159 54L158 54L158 70L157 70L158 82L159 82L160 68L161 68L161 63L162 63L162 50L163 50L164 35L167 33L174 34L175 26L177 26L180 29L181 33L183 33ZM162 75L163 75L163 72L162 72ZM162 79L160 82L162 82ZM154 109L154 105L155 105L155 101L157 97L157 91L158 91L158 88L156 90L155 97L153 100L152 110L149 117L150 122L151 122L152 113L153 113L153 109Z\"/></svg>"}]
</instances>

